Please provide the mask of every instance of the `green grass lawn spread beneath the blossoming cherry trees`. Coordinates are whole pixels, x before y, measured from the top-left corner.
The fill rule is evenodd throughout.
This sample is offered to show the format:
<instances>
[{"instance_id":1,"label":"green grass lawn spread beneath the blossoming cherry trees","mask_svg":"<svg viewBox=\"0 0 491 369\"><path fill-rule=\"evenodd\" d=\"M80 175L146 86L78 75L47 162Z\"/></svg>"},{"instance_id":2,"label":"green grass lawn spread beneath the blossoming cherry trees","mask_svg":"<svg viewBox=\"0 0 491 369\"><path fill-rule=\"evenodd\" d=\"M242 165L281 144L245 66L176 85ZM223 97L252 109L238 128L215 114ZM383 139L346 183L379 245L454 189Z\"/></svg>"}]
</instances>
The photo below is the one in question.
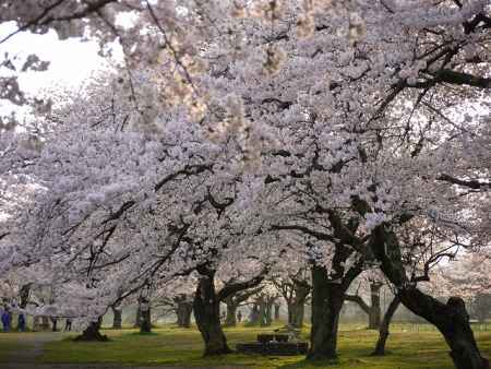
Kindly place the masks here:
<instances>
[{"instance_id":1,"label":"green grass lawn spread beneath the blossoming cherry trees","mask_svg":"<svg viewBox=\"0 0 491 369\"><path fill-rule=\"evenodd\" d=\"M343 325L339 333L339 359L336 364L319 362L312 366L302 356L266 357L255 355L227 355L203 358L200 333L195 329L171 326L154 330L154 334L140 335L133 330L104 331L111 342L75 343L69 338L45 346L40 358L44 364L121 364L140 366L250 366L253 368L360 368L360 369L446 369L453 368L447 348L438 332L423 325L395 325L388 338L386 357L370 357L378 332L354 325ZM255 341L260 332L270 329L227 329L231 347L243 341ZM489 332L489 331L488 331ZM307 337L308 331L304 335ZM476 333L484 355L491 357L491 334ZM8 334L4 336L13 336ZM1 337L1 336L0 336ZM3 342L4 343L4 342ZM3 344L0 344L0 347ZM1 352L0 352L1 355Z\"/></svg>"}]
</instances>

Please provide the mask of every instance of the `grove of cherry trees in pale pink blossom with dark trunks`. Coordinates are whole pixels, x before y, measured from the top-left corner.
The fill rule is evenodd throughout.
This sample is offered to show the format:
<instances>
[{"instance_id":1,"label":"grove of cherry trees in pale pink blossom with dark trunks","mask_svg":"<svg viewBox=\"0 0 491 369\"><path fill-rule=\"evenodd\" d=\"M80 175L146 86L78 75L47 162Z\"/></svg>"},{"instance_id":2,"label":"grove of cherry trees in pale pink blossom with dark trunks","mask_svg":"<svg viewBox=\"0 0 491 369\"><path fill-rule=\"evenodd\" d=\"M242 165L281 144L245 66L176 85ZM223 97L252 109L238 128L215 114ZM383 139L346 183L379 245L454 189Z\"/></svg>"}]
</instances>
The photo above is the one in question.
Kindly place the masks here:
<instances>
[{"instance_id":1,"label":"grove of cherry trees in pale pink blossom with dark trunks","mask_svg":"<svg viewBox=\"0 0 491 369\"><path fill-rule=\"evenodd\" d=\"M348 299L386 340L387 283L455 368L489 368L464 296L490 286L488 0L0 0L7 22L0 47L53 31L111 60L43 97L17 79L48 63L1 64L0 100L34 118L0 121L0 281L50 288L23 309L103 340L121 303L149 330L151 301L183 326L192 301L226 355L220 303L282 295L301 326L311 299L316 360Z\"/></svg>"}]
</instances>

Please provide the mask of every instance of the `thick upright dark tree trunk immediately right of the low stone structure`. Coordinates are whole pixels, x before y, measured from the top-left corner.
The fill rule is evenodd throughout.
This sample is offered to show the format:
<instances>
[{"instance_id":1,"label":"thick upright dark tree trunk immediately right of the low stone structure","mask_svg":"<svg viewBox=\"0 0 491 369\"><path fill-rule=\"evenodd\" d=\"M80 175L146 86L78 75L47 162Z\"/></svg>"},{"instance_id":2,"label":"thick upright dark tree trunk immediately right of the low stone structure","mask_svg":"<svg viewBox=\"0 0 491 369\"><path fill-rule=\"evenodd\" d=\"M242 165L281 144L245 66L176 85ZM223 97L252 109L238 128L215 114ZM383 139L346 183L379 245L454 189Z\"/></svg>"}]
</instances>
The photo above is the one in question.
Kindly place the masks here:
<instances>
[{"instance_id":1,"label":"thick upright dark tree trunk immediately right of the low stone structure","mask_svg":"<svg viewBox=\"0 0 491 369\"><path fill-rule=\"evenodd\" d=\"M336 358L339 313L345 287L330 281L327 271L312 266L312 329L308 359Z\"/></svg>"}]
</instances>

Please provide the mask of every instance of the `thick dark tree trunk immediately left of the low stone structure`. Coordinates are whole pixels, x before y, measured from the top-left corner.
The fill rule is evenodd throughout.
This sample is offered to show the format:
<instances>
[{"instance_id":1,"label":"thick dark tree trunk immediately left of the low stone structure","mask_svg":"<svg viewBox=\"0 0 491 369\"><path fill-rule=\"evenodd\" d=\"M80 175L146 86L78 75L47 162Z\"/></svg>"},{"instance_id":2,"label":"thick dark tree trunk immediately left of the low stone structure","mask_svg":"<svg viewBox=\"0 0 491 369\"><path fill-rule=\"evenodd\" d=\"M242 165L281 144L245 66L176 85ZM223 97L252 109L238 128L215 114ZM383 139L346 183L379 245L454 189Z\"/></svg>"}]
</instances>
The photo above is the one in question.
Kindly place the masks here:
<instances>
[{"instance_id":1,"label":"thick dark tree trunk immediately left of the low stone structure","mask_svg":"<svg viewBox=\"0 0 491 369\"><path fill-rule=\"evenodd\" d=\"M204 356L231 353L220 324L220 301L214 283L215 273L208 271L200 278L194 296L193 310L197 329L205 344Z\"/></svg>"}]
</instances>

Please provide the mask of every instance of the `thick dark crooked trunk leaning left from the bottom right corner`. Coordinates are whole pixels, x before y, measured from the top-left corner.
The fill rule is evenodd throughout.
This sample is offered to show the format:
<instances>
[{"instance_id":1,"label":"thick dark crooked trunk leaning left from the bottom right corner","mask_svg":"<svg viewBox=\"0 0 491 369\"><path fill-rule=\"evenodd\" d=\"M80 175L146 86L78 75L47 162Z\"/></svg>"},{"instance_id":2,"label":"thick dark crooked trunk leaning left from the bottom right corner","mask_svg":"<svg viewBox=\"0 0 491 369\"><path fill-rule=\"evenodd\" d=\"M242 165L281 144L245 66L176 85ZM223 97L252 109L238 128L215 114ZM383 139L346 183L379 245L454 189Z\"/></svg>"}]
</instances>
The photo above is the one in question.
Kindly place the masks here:
<instances>
[{"instance_id":1,"label":"thick dark crooked trunk leaning left from the bottom right corner","mask_svg":"<svg viewBox=\"0 0 491 369\"><path fill-rule=\"evenodd\" d=\"M452 297L446 303L442 303L420 291L416 283L407 281L395 233L382 224L372 235L370 245L373 253L381 262L381 270L398 287L400 302L439 329L451 348L450 356L455 368L489 369L488 359L481 356L476 344L464 300Z\"/></svg>"}]
</instances>

